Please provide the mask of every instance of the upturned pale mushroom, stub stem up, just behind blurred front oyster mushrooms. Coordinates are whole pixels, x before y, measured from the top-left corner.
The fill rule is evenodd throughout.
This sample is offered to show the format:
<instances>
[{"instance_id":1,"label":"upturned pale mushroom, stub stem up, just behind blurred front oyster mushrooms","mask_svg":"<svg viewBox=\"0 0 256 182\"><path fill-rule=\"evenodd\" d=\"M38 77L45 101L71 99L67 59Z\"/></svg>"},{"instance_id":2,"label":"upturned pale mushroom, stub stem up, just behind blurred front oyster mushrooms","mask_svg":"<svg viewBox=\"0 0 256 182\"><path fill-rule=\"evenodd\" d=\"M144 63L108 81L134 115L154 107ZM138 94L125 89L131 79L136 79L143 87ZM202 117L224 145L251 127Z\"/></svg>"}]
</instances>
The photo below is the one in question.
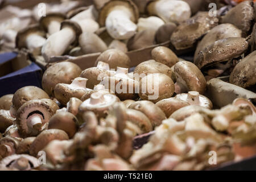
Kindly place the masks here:
<instances>
[{"instance_id":1,"label":"upturned pale mushroom, stub stem up, just behind blurred front oyster mushrooms","mask_svg":"<svg viewBox=\"0 0 256 182\"><path fill-rule=\"evenodd\" d=\"M119 102L119 98L113 94L92 93L90 98L79 106L79 113L93 111L98 118L105 117L115 102Z\"/></svg>"}]
</instances>

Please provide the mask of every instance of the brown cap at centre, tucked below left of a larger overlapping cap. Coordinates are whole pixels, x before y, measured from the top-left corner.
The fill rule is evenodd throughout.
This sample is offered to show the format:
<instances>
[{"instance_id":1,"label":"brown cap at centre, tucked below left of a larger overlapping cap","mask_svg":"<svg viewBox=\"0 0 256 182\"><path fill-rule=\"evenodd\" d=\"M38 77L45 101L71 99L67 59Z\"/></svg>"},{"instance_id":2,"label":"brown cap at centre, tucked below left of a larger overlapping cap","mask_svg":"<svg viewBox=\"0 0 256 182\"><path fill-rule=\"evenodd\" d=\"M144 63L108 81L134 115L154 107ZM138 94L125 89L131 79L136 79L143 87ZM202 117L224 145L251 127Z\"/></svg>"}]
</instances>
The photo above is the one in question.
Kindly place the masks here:
<instances>
[{"instance_id":1,"label":"brown cap at centre, tucked below left of a larger overlapping cap","mask_svg":"<svg viewBox=\"0 0 256 182\"><path fill-rule=\"evenodd\" d=\"M148 133L153 130L150 120L141 111L127 109L126 114L127 120L137 125L143 133Z\"/></svg>"}]
</instances>

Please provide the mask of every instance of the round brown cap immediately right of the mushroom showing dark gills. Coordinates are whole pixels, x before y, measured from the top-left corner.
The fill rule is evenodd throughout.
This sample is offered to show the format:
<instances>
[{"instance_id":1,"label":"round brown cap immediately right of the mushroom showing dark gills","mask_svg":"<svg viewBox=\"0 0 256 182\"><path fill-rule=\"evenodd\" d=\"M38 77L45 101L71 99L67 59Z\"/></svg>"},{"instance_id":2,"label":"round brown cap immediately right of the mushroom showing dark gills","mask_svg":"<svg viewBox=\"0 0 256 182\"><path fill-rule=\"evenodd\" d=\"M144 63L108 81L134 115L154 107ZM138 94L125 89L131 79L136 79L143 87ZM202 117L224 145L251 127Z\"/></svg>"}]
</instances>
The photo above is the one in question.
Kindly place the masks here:
<instances>
[{"instance_id":1,"label":"round brown cap immediately right of the mushroom showing dark gills","mask_svg":"<svg viewBox=\"0 0 256 182\"><path fill-rule=\"evenodd\" d=\"M51 117L48 129L59 129L65 131L69 138L72 138L77 131L77 118L74 114L68 112L60 112Z\"/></svg>"}]
</instances>

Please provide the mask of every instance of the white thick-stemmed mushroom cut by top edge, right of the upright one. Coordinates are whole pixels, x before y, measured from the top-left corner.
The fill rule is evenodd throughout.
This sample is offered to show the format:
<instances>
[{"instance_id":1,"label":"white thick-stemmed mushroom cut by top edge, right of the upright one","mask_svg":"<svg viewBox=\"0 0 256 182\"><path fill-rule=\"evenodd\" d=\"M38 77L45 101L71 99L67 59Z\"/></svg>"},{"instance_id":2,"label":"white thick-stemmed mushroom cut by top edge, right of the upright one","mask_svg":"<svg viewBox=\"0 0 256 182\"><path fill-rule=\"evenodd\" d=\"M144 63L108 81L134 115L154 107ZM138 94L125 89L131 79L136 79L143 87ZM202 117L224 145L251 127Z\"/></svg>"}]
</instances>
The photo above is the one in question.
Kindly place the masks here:
<instances>
[{"instance_id":1,"label":"white thick-stemmed mushroom cut by top edge, right of the upright one","mask_svg":"<svg viewBox=\"0 0 256 182\"><path fill-rule=\"evenodd\" d=\"M151 1L147 5L150 15L157 15L164 22L183 22L191 16L191 9L187 2L175 0Z\"/></svg>"}]
</instances>

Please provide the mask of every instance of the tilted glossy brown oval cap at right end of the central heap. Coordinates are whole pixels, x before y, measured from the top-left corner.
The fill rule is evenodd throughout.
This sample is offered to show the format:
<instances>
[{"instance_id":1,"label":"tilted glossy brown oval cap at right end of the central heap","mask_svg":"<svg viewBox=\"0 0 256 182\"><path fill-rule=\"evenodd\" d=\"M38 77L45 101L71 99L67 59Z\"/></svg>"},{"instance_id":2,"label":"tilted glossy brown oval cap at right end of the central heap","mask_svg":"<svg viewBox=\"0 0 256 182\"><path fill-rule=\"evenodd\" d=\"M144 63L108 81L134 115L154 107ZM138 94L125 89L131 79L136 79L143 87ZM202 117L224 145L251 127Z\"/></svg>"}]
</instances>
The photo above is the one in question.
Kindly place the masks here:
<instances>
[{"instance_id":1,"label":"tilted glossy brown oval cap at right end of the central heap","mask_svg":"<svg viewBox=\"0 0 256 182\"><path fill-rule=\"evenodd\" d=\"M207 81L200 69L189 61L179 61L174 65L177 82L180 82L188 91L205 92Z\"/></svg>"}]
</instances>

